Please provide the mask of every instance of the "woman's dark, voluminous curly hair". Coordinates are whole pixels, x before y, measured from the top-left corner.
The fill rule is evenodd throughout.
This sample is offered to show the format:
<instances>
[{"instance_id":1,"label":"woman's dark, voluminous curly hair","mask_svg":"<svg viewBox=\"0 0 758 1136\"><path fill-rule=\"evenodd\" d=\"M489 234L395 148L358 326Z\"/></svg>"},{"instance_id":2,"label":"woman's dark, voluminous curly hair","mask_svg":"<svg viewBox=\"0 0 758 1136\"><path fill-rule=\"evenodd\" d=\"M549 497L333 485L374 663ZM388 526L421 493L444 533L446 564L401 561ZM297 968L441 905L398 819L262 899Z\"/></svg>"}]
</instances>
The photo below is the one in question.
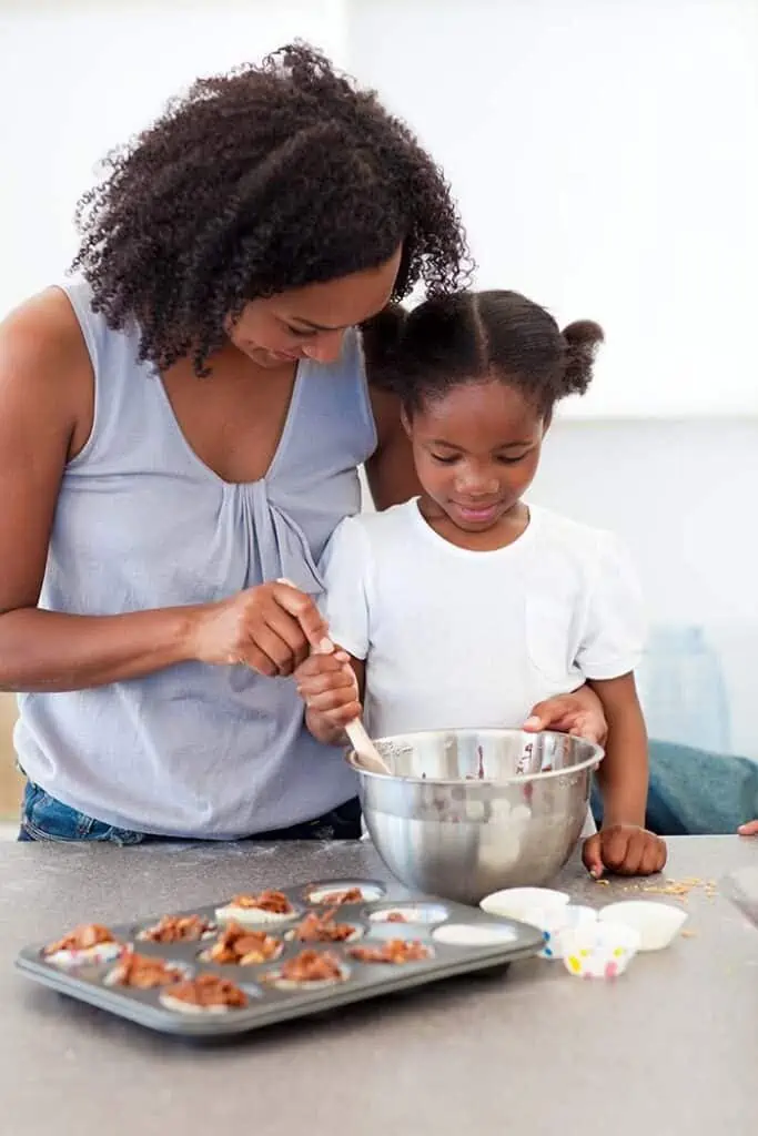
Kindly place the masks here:
<instances>
[{"instance_id":1,"label":"woman's dark, voluminous curly hair","mask_svg":"<svg viewBox=\"0 0 758 1136\"><path fill-rule=\"evenodd\" d=\"M73 270L140 358L198 374L247 301L403 256L393 299L467 276L450 187L410 130L307 44L198 80L76 210Z\"/></svg>"}]
</instances>

